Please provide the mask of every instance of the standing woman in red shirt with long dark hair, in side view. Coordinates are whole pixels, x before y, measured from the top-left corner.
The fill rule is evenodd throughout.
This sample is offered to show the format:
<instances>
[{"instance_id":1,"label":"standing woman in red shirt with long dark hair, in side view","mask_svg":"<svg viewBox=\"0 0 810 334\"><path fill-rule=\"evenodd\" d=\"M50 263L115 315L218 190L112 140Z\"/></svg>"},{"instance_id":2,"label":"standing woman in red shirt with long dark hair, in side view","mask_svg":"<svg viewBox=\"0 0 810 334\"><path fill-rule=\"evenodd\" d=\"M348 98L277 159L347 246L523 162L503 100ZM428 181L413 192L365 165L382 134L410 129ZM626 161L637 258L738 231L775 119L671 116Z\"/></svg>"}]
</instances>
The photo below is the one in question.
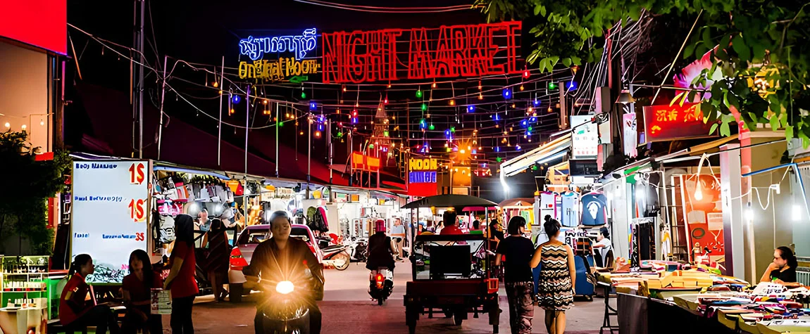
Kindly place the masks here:
<instances>
[{"instance_id":1,"label":"standing woman in red shirt with long dark hair, in side view","mask_svg":"<svg viewBox=\"0 0 810 334\"><path fill-rule=\"evenodd\" d=\"M194 272L197 260L194 259L194 218L188 214L178 214L174 218L174 249L168 257L172 270L166 277L164 289L172 294L172 333L194 333L191 321L191 307L199 289Z\"/></svg>"}]
</instances>

